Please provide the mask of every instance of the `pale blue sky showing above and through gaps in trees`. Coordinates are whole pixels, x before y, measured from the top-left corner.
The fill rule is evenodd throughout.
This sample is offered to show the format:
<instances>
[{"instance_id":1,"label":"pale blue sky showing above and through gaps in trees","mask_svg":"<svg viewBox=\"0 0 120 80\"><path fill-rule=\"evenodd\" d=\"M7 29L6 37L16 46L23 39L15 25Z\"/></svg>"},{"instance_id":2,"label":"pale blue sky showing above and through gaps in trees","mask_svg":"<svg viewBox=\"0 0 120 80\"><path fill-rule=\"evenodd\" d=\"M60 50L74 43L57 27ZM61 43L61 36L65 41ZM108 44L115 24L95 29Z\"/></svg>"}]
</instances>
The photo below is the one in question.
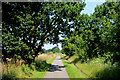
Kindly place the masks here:
<instances>
[{"instance_id":1,"label":"pale blue sky showing above and through gaps in trees","mask_svg":"<svg viewBox=\"0 0 120 80\"><path fill-rule=\"evenodd\" d=\"M83 11L81 11L81 14L92 14L94 12L94 8L97 6L97 5L101 5L102 3L104 3L105 0L86 0L85 3L86 3L86 6L84 8ZM60 39L63 39L62 37L60 37ZM55 47L55 45L53 44L44 44L44 49L48 50L48 49L52 49L53 47ZM60 48L60 50L62 49L61 47L61 44L58 43L58 47Z\"/></svg>"}]
</instances>

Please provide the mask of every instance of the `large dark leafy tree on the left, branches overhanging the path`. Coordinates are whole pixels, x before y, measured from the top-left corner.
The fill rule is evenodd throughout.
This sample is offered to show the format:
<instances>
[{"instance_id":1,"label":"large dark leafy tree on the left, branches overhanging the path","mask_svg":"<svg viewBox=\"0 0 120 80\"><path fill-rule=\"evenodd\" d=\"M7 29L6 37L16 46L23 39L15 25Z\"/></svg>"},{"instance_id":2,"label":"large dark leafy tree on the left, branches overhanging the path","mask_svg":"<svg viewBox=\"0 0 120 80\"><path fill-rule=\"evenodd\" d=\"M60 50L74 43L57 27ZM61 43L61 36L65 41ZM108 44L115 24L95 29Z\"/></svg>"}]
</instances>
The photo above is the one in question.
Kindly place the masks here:
<instances>
[{"instance_id":1,"label":"large dark leafy tree on the left, branches overhanging the path","mask_svg":"<svg viewBox=\"0 0 120 80\"><path fill-rule=\"evenodd\" d=\"M75 21L84 6L84 2L3 3L4 57L20 53L31 63L45 42L55 44L59 34L68 35L74 28L68 22Z\"/></svg>"}]
</instances>

